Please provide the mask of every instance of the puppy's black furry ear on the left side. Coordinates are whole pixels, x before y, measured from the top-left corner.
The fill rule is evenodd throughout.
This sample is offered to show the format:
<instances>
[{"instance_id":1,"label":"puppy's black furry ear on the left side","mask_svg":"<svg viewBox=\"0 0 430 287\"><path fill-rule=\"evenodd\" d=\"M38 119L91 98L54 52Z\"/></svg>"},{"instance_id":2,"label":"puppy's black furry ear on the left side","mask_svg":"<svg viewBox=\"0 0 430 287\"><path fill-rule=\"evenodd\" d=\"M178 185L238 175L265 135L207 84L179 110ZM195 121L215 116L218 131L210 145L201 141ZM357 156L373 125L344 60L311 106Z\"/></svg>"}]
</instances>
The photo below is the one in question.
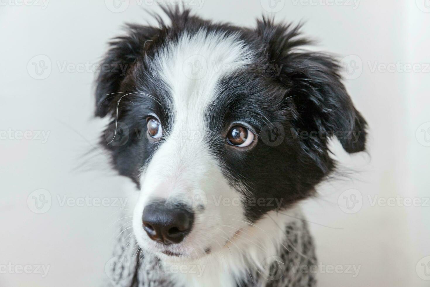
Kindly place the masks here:
<instances>
[{"instance_id":1,"label":"puppy's black furry ear on the left side","mask_svg":"<svg viewBox=\"0 0 430 287\"><path fill-rule=\"evenodd\" d=\"M161 28L127 25L126 36L114 38L110 49L101 61L96 79L95 116L104 117L111 111L120 86L133 64L143 59L160 35Z\"/></svg>"}]
</instances>

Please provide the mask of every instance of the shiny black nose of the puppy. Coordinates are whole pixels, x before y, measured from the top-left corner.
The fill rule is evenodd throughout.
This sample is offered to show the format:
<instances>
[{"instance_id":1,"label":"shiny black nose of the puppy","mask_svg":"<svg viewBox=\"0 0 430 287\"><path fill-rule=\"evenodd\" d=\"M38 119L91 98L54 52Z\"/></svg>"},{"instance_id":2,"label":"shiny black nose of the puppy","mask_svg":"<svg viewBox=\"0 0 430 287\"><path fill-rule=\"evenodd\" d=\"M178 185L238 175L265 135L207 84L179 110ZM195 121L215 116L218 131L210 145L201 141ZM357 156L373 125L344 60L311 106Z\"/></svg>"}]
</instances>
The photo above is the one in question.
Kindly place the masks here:
<instances>
[{"instance_id":1,"label":"shiny black nose of the puppy","mask_svg":"<svg viewBox=\"0 0 430 287\"><path fill-rule=\"evenodd\" d=\"M143 229L149 238L166 245L181 242L190 233L193 221L194 214L183 207L158 201L147 205L142 214Z\"/></svg>"}]
</instances>

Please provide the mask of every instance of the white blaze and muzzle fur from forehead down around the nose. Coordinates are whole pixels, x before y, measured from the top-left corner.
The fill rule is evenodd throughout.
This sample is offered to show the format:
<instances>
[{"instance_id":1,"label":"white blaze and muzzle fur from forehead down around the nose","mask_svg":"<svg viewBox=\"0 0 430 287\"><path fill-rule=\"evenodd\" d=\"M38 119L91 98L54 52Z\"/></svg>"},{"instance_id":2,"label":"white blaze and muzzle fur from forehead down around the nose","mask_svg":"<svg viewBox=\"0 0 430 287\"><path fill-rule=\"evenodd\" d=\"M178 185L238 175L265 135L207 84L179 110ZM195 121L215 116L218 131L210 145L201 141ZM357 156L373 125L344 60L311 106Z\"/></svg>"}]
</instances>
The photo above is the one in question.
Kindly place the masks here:
<instances>
[{"instance_id":1,"label":"white blaze and muzzle fur from forehead down around the nose","mask_svg":"<svg viewBox=\"0 0 430 287\"><path fill-rule=\"evenodd\" d=\"M142 228L144 207L154 199L189 204L191 198L194 205L194 198L203 194L207 205L195 214L192 231L175 248L186 256L196 256L196 252L204 255L206 248L221 247L246 223L242 205L216 204L214 200L232 200L242 195L229 184L206 144L209 133L205 112L217 96L218 81L251 64L254 56L236 34L207 34L202 30L183 34L177 42L167 44L156 58L154 71L158 71L172 96L173 127L163 135L163 142L142 173L133 229L142 248L157 250L159 247ZM226 214L237 221L228 221Z\"/></svg>"}]
</instances>

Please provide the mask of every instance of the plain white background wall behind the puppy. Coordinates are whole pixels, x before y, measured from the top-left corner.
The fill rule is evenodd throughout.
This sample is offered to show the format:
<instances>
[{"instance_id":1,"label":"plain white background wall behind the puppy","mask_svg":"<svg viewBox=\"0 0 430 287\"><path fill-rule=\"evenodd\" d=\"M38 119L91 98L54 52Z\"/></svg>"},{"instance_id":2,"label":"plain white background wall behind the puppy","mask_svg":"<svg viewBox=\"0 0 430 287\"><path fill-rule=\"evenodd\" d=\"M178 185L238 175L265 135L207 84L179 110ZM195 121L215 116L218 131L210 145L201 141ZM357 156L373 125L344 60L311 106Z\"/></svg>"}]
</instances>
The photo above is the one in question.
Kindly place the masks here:
<instances>
[{"instance_id":1,"label":"plain white background wall behind the puppy","mask_svg":"<svg viewBox=\"0 0 430 287\"><path fill-rule=\"evenodd\" d=\"M370 127L369 154L351 157L334 143L344 170L357 173L320 186L320 196L303 204L319 262L360 266L356 277L323 269L319 286L429 286L421 265L430 261L421 260L430 256L429 203L371 201L399 195L424 203L430 196L430 2L271 1L276 20L306 21L303 31L319 41L315 49L347 57L344 74L349 68L351 75L345 85ZM106 122L92 118L94 73L85 66L101 59L124 22L151 22L143 8L159 10L152 1L130 0L118 12L112 3L0 1L0 130L12 133L0 139L0 266L49 265L45 277L0 269L0 286L99 286L106 276L118 207L61 206L68 198L124 198L121 188L130 184L109 169L97 148ZM268 0L187 3L204 18L248 27L272 14L264 10ZM39 55L49 58L50 73L35 74L34 63L46 60ZM389 64L394 70L384 70ZM420 71L405 71L407 64ZM17 139L19 131L49 135L46 142L35 133ZM27 204L38 189L52 198L41 214ZM345 199L350 189L362 198L353 210Z\"/></svg>"}]
</instances>

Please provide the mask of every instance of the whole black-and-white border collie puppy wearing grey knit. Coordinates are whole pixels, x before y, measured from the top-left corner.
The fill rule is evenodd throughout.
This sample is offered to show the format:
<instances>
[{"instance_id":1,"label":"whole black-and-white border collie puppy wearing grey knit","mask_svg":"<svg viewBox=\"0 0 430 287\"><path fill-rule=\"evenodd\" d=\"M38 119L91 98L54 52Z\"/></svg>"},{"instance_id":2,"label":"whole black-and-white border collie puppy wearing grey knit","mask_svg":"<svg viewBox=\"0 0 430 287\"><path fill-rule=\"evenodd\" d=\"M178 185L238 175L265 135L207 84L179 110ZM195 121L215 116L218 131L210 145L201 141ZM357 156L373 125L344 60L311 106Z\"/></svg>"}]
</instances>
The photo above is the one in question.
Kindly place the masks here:
<instances>
[{"instance_id":1,"label":"whole black-and-white border collie puppy wearing grey knit","mask_svg":"<svg viewBox=\"0 0 430 287\"><path fill-rule=\"evenodd\" d=\"M365 149L337 61L302 49L298 26L164 12L128 25L97 78L101 145L135 183L109 285L315 286L297 203L334 170L330 137Z\"/></svg>"}]
</instances>

